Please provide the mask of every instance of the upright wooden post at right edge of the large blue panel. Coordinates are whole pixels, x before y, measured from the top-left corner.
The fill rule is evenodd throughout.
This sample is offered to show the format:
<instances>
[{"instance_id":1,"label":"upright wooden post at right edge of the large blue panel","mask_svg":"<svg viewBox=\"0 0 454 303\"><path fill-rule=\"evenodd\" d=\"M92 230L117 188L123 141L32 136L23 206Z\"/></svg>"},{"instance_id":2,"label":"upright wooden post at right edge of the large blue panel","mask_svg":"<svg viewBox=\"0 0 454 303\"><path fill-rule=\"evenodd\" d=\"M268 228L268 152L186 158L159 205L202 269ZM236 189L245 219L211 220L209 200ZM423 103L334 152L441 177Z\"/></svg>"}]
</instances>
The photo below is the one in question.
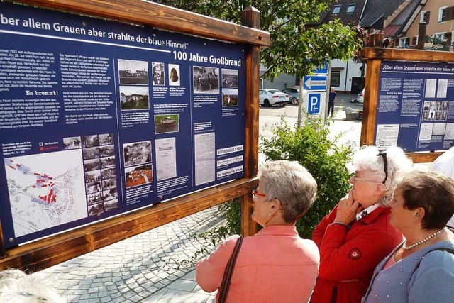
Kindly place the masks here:
<instances>
[{"instance_id":1,"label":"upright wooden post at right edge of the large blue panel","mask_svg":"<svg viewBox=\"0 0 454 303\"><path fill-rule=\"evenodd\" d=\"M260 28L260 11L248 7L243 11L243 25ZM258 40L260 40L260 35ZM245 177L255 177L258 171L258 90L260 89L260 47L248 47L246 53L246 136ZM257 233L257 224L251 219L253 199L250 193L241 198L241 233L252 236Z\"/></svg>"}]
</instances>

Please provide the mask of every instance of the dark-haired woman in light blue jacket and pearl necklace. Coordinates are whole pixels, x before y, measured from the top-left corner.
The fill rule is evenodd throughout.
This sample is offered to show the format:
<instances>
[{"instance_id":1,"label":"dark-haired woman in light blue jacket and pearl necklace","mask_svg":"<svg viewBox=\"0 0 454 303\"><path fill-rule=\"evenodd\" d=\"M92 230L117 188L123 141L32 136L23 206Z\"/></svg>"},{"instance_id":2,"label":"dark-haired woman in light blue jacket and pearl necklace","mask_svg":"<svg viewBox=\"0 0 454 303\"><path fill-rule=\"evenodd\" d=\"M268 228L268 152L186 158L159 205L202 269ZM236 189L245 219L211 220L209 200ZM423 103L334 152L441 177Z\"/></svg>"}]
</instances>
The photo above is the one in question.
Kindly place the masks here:
<instances>
[{"instance_id":1,"label":"dark-haired woman in light blue jacket and pearl necklace","mask_svg":"<svg viewBox=\"0 0 454 303\"><path fill-rule=\"evenodd\" d=\"M390 223L406 240L375 269L363 302L454 302L454 181L415 170L394 191Z\"/></svg>"}]
</instances>

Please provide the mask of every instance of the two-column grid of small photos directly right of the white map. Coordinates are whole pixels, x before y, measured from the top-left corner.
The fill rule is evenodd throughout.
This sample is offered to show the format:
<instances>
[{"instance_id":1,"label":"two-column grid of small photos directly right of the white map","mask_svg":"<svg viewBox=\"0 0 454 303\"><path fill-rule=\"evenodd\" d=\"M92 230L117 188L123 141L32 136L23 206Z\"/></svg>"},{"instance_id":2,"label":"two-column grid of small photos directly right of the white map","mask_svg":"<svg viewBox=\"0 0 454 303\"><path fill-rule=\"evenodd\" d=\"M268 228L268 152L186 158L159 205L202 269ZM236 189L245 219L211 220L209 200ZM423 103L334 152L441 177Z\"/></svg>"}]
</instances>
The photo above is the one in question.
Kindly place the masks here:
<instances>
[{"instance_id":1,"label":"two-column grid of small photos directly right of the white map","mask_svg":"<svg viewBox=\"0 0 454 303\"><path fill-rule=\"evenodd\" d=\"M84 159L89 216L96 216L104 213L104 211L117 209L118 190L116 186L114 134L101 133L79 138L82 146L82 158ZM68 142L73 140L73 138L70 138Z\"/></svg>"}]
</instances>

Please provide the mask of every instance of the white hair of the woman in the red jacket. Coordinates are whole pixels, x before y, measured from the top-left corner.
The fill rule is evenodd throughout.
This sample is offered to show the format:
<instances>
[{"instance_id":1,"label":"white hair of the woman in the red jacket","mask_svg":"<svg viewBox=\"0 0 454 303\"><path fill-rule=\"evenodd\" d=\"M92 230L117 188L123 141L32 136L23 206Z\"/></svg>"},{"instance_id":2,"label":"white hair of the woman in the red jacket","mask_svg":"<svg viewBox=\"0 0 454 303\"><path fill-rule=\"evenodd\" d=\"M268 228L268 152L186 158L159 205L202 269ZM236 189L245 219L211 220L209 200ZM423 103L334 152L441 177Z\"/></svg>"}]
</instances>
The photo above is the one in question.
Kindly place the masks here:
<instances>
[{"instance_id":1,"label":"white hair of the woman in the red jacket","mask_svg":"<svg viewBox=\"0 0 454 303\"><path fill-rule=\"evenodd\" d=\"M380 150L376 146L364 146L353 155L353 167L355 170L367 173L367 180L383 182L384 159L379 155ZM384 153L384 151L382 151ZM405 177L406 173L413 167L413 162L406 157L404 150L397 146L391 146L386 150L388 162L388 175L384 184L384 196L380 203L388 206L397 182Z\"/></svg>"}]
</instances>

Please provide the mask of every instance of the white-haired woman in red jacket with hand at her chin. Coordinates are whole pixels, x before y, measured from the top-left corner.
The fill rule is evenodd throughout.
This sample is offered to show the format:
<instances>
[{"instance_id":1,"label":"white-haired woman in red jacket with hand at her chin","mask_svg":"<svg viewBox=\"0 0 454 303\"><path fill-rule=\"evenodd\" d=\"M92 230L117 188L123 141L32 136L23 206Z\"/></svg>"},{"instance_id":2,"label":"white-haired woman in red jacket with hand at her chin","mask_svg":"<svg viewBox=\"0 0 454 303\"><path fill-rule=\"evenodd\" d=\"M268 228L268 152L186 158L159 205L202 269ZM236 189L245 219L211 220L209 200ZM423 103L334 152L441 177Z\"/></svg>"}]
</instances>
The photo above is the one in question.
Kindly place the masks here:
<instances>
[{"instance_id":1,"label":"white-haired woman in red jacket with hand at her chin","mask_svg":"<svg viewBox=\"0 0 454 303\"><path fill-rule=\"evenodd\" d=\"M388 202L397 179L412 163L401 148L366 146L353 155L353 187L316 226L320 250L314 303L361 302L375 266L402 241L389 225Z\"/></svg>"}]
</instances>

